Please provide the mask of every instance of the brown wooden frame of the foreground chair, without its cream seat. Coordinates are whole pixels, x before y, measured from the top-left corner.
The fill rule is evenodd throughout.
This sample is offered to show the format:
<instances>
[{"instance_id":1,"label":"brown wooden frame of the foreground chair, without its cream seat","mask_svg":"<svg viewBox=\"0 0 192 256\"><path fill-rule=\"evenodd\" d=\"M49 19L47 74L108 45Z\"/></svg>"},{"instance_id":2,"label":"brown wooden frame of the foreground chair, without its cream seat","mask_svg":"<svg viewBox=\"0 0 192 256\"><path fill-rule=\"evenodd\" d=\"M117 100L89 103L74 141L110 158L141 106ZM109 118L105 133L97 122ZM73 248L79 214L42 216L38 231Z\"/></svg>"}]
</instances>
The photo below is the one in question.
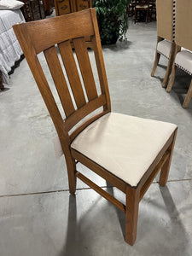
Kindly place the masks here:
<instances>
[{"instance_id":1,"label":"brown wooden frame of the foreground chair, without its cream seat","mask_svg":"<svg viewBox=\"0 0 192 256\"><path fill-rule=\"evenodd\" d=\"M73 26L70 22L73 22ZM63 26L63 24L65 24L65 26ZM81 28L79 28L79 24L82 26ZM160 153L156 156L147 172L145 172L140 183L137 184L137 187L131 187L119 177L115 177L110 170L104 169L96 162L84 156L84 154L70 147L73 139L77 137L87 125L90 125L90 123L111 111L108 80L104 67L102 45L99 37L95 9L49 19L46 25L44 20L16 25L14 26L14 30L60 138L61 147L67 162L70 193L75 193L76 178L79 177L84 183L87 183L92 189L95 189L96 192L112 202L114 206L118 207L122 212L125 212L125 241L133 245L137 236L139 201L148 190L150 183L153 182L160 168L162 169L161 182L166 183L167 170L171 162L170 151L173 148L174 133L160 150ZM61 33L58 35L60 30ZM96 58L96 67L102 95L97 95L96 84L87 52L88 44L84 42L84 38L87 36L91 37L90 43ZM78 67L76 67L73 50L71 49L72 44L70 44L70 42L72 40L74 54L78 57L79 69L84 79L84 85L81 84ZM67 84L67 79L65 78L66 73L61 70L61 62L60 58L57 56L55 44L58 45L58 49L60 50L69 84ZM62 107L66 113L66 119L64 120L61 117L54 96L49 89L43 68L38 61L37 55L40 51L44 51L50 73L61 99ZM82 86L85 87L85 92ZM69 87L72 93L69 92ZM84 93L87 94L88 102L85 101L86 96ZM73 106L73 100L76 107ZM98 110L97 113L95 113L96 110ZM89 116L89 118L87 118L87 116ZM84 122L79 125L79 121L82 121L82 119L84 119ZM77 172L77 161L123 191L126 196L126 205L124 206L82 173ZM166 166L163 167L164 165Z\"/></svg>"}]
</instances>

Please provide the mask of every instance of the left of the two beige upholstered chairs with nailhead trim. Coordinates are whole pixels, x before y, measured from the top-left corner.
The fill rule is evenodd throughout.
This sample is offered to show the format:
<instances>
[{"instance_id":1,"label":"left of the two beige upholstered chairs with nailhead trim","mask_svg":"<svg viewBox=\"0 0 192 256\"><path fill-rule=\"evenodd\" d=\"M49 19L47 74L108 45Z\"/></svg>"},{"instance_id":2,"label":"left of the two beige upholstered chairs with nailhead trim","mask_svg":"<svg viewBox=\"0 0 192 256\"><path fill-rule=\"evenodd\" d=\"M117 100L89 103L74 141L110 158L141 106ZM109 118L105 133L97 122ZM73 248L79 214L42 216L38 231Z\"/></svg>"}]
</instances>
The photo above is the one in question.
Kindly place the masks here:
<instances>
[{"instance_id":1,"label":"left of the two beige upholstered chairs with nailhead trim","mask_svg":"<svg viewBox=\"0 0 192 256\"><path fill-rule=\"evenodd\" d=\"M175 43L175 0L156 0L157 15L157 44L154 55L154 66L151 76L154 77L160 55L168 59L166 74L162 82L162 87L166 87L170 74L172 73L172 63L174 60Z\"/></svg>"}]
</instances>

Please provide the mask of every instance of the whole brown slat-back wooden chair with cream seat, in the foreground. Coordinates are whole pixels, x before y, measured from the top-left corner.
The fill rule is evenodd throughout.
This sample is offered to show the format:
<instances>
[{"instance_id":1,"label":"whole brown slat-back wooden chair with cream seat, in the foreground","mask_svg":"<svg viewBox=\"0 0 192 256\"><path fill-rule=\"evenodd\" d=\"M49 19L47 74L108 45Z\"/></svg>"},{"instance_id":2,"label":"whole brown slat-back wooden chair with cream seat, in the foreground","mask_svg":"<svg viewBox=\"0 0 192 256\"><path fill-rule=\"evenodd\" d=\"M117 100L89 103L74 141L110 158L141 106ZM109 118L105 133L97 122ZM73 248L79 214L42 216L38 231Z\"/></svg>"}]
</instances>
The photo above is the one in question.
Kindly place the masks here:
<instances>
[{"instance_id":1,"label":"whole brown slat-back wooden chair with cream seat, in the foreground","mask_svg":"<svg viewBox=\"0 0 192 256\"><path fill-rule=\"evenodd\" d=\"M15 25L14 30L60 138L70 193L75 193L79 177L125 212L125 241L133 245L139 202L160 170L160 185L166 185L177 125L111 113L95 9ZM90 43L85 43L87 36ZM88 47L95 54L101 90L96 88ZM65 119L38 61L40 52L44 52ZM125 205L79 172L77 162L123 191Z\"/></svg>"}]
</instances>

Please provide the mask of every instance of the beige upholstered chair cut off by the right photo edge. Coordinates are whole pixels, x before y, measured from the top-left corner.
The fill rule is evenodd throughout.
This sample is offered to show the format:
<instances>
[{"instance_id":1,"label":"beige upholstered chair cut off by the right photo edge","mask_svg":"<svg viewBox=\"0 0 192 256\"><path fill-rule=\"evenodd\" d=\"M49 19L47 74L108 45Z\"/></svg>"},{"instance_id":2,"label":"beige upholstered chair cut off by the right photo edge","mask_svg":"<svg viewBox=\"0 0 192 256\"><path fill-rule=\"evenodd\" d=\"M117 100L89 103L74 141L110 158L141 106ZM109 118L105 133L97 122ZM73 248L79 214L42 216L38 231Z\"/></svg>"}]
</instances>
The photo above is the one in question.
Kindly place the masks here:
<instances>
[{"instance_id":1,"label":"beige upholstered chair cut off by the right photo edge","mask_svg":"<svg viewBox=\"0 0 192 256\"><path fill-rule=\"evenodd\" d=\"M172 75L166 91L172 90L177 67L192 75L192 2L188 0L177 0L176 5L176 28L175 28L175 55L172 65ZM183 102L183 108L189 107L192 98L192 79L189 90Z\"/></svg>"}]
</instances>

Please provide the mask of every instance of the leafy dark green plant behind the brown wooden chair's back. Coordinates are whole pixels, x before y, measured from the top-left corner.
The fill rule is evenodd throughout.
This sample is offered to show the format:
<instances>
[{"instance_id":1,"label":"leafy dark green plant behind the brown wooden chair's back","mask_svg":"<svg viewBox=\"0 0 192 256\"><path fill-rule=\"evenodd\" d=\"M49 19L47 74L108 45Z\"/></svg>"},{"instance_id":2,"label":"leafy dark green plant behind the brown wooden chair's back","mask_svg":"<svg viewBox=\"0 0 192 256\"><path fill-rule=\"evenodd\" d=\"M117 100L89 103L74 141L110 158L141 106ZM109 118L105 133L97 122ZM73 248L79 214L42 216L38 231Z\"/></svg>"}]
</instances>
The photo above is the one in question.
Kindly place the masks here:
<instances>
[{"instance_id":1,"label":"leafy dark green plant behind the brown wooden chair's back","mask_svg":"<svg viewBox=\"0 0 192 256\"><path fill-rule=\"evenodd\" d=\"M95 0L100 37L102 44L115 44L117 40L126 39L128 15L127 0Z\"/></svg>"}]
</instances>

